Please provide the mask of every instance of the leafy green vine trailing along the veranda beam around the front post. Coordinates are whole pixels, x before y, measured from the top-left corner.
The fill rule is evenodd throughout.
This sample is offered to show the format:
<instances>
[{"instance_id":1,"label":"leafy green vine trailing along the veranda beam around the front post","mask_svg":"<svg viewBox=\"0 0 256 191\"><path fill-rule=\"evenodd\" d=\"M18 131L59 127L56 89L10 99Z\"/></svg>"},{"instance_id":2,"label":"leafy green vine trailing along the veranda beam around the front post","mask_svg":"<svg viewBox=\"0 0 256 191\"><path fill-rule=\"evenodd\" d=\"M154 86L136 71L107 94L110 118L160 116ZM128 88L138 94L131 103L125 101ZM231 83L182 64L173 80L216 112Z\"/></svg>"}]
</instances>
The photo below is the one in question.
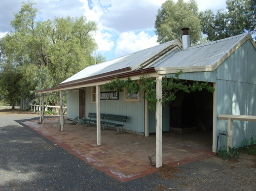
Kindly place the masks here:
<instances>
[{"instance_id":1,"label":"leafy green vine trailing along the veranda beam around the front post","mask_svg":"<svg viewBox=\"0 0 256 191\"><path fill-rule=\"evenodd\" d=\"M179 76L182 74L182 70L175 74L175 77L164 77L162 79L162 92L163 96L159 100L162 105L176 99L176 92L179 90L186 93L190 93L196 90L201 91L206 89L207 91L214 93L215 89L212 84L208 82L187 82L180 80ZM148 108L150 110L156 110L156 78L150 77L147 73L142 73L140 76L141 85L138 86L137 81L132 81L129 77L126 80L120 80L115 77L115 80L111 80L105 84L104 89L115 90L122 92L123 88L126 88L127 93L138 93L140 90L145 92L144 98L149 101Z\"/></svg>"}]
</instances>

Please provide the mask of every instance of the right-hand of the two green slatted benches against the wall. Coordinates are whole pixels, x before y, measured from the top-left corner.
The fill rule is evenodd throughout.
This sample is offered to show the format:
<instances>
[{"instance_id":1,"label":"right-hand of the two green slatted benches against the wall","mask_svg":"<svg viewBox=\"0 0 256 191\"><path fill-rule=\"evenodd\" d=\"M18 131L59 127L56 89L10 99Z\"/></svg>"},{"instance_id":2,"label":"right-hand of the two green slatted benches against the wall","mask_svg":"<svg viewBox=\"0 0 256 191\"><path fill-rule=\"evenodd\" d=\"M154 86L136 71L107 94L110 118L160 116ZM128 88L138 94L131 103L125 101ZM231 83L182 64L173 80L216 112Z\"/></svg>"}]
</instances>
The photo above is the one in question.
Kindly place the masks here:
<instances>
[{"instance_id":1,"label":"right-hand of the two green slatted benches against the wall","mask_svg":"<svg viewBox=\"0 0 256 191\"><path fill-rule=\"evenodd\" d=\"M103 124L103 130L105 130L105 125L107 127L106 129L108 129L108 125L112 125L114 127L117 127L117 134L124 133L123 125L124 125L124 122L126 122L127 116L106 114L104 116L104 119L107 121L104 121L104 120L101 121L101 124ZM119 132L119 127L121 127L121 132Z\"/></svg>"}]
</instances>

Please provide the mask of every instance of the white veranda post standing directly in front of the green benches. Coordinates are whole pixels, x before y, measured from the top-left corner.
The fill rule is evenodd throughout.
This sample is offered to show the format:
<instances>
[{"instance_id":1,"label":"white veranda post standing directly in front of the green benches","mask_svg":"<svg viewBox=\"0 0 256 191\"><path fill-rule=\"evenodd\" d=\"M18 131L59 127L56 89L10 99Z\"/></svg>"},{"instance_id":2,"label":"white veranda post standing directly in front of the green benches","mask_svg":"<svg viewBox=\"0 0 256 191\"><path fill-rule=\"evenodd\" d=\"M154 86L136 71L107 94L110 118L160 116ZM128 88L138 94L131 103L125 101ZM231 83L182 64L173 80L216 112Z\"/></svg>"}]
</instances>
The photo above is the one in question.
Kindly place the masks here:
<instances>
[{"instance_id":1,"label":"white veranda post standing directly in front of the green benches","mask_svg":"<svg viewBox=\"0 0 256 191\"><path fill-rule=\"evenodd\" d=\"M100 100L100 85L96 86L96 112L97 112L97 145L101 145L101 100Z\"/></svg>"}]
</instances>

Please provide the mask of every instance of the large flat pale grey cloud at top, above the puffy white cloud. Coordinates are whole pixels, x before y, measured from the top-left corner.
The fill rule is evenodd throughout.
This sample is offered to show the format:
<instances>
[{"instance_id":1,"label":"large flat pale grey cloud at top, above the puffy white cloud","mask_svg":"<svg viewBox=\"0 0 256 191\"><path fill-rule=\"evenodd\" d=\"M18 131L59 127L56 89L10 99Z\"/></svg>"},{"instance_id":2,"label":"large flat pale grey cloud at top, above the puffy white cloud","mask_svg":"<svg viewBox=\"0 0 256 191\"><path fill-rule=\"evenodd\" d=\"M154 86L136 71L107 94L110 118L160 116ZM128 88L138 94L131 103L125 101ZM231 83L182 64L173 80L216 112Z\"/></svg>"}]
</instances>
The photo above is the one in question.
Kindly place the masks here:
<instances>
[{"instance_id":1,"label":"large flat pale grey cloud at top, above the puffy white cloud","mask_svg":"<svg viewBox=\"0 0 256 191\"><path fill-rule=\"evenodd\" d=\"M153 0L111 0L106 14L101 15L102 26L117 32L153 29L161 4Z\"/></svg>"}]
</instances>

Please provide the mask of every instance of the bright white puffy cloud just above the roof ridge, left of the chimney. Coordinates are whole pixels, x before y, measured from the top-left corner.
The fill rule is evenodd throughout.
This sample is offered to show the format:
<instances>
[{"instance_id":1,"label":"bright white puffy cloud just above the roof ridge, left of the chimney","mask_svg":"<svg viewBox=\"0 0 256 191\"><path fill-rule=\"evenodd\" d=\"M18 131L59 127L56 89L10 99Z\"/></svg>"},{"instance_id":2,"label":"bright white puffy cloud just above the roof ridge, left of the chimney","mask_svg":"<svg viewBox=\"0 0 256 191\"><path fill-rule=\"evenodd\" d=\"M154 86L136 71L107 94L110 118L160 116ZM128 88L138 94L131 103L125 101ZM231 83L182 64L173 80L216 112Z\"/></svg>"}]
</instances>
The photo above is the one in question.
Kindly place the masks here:
<instances>
[{"instance_id":1,"label":"bright white puffy cloud just above the roof ridge, left of the chimney","mask_svg":"<svg viewBox=\"0 0 256 191\"><path fill-rule=\"evenodd\" d=\"M138 35L135 32L124 32L117 39L115 55L119 57L156 46L158 45L156 40L156 35L151 37L145 31L140 32Z\"/></svg>"}]
</instances>

